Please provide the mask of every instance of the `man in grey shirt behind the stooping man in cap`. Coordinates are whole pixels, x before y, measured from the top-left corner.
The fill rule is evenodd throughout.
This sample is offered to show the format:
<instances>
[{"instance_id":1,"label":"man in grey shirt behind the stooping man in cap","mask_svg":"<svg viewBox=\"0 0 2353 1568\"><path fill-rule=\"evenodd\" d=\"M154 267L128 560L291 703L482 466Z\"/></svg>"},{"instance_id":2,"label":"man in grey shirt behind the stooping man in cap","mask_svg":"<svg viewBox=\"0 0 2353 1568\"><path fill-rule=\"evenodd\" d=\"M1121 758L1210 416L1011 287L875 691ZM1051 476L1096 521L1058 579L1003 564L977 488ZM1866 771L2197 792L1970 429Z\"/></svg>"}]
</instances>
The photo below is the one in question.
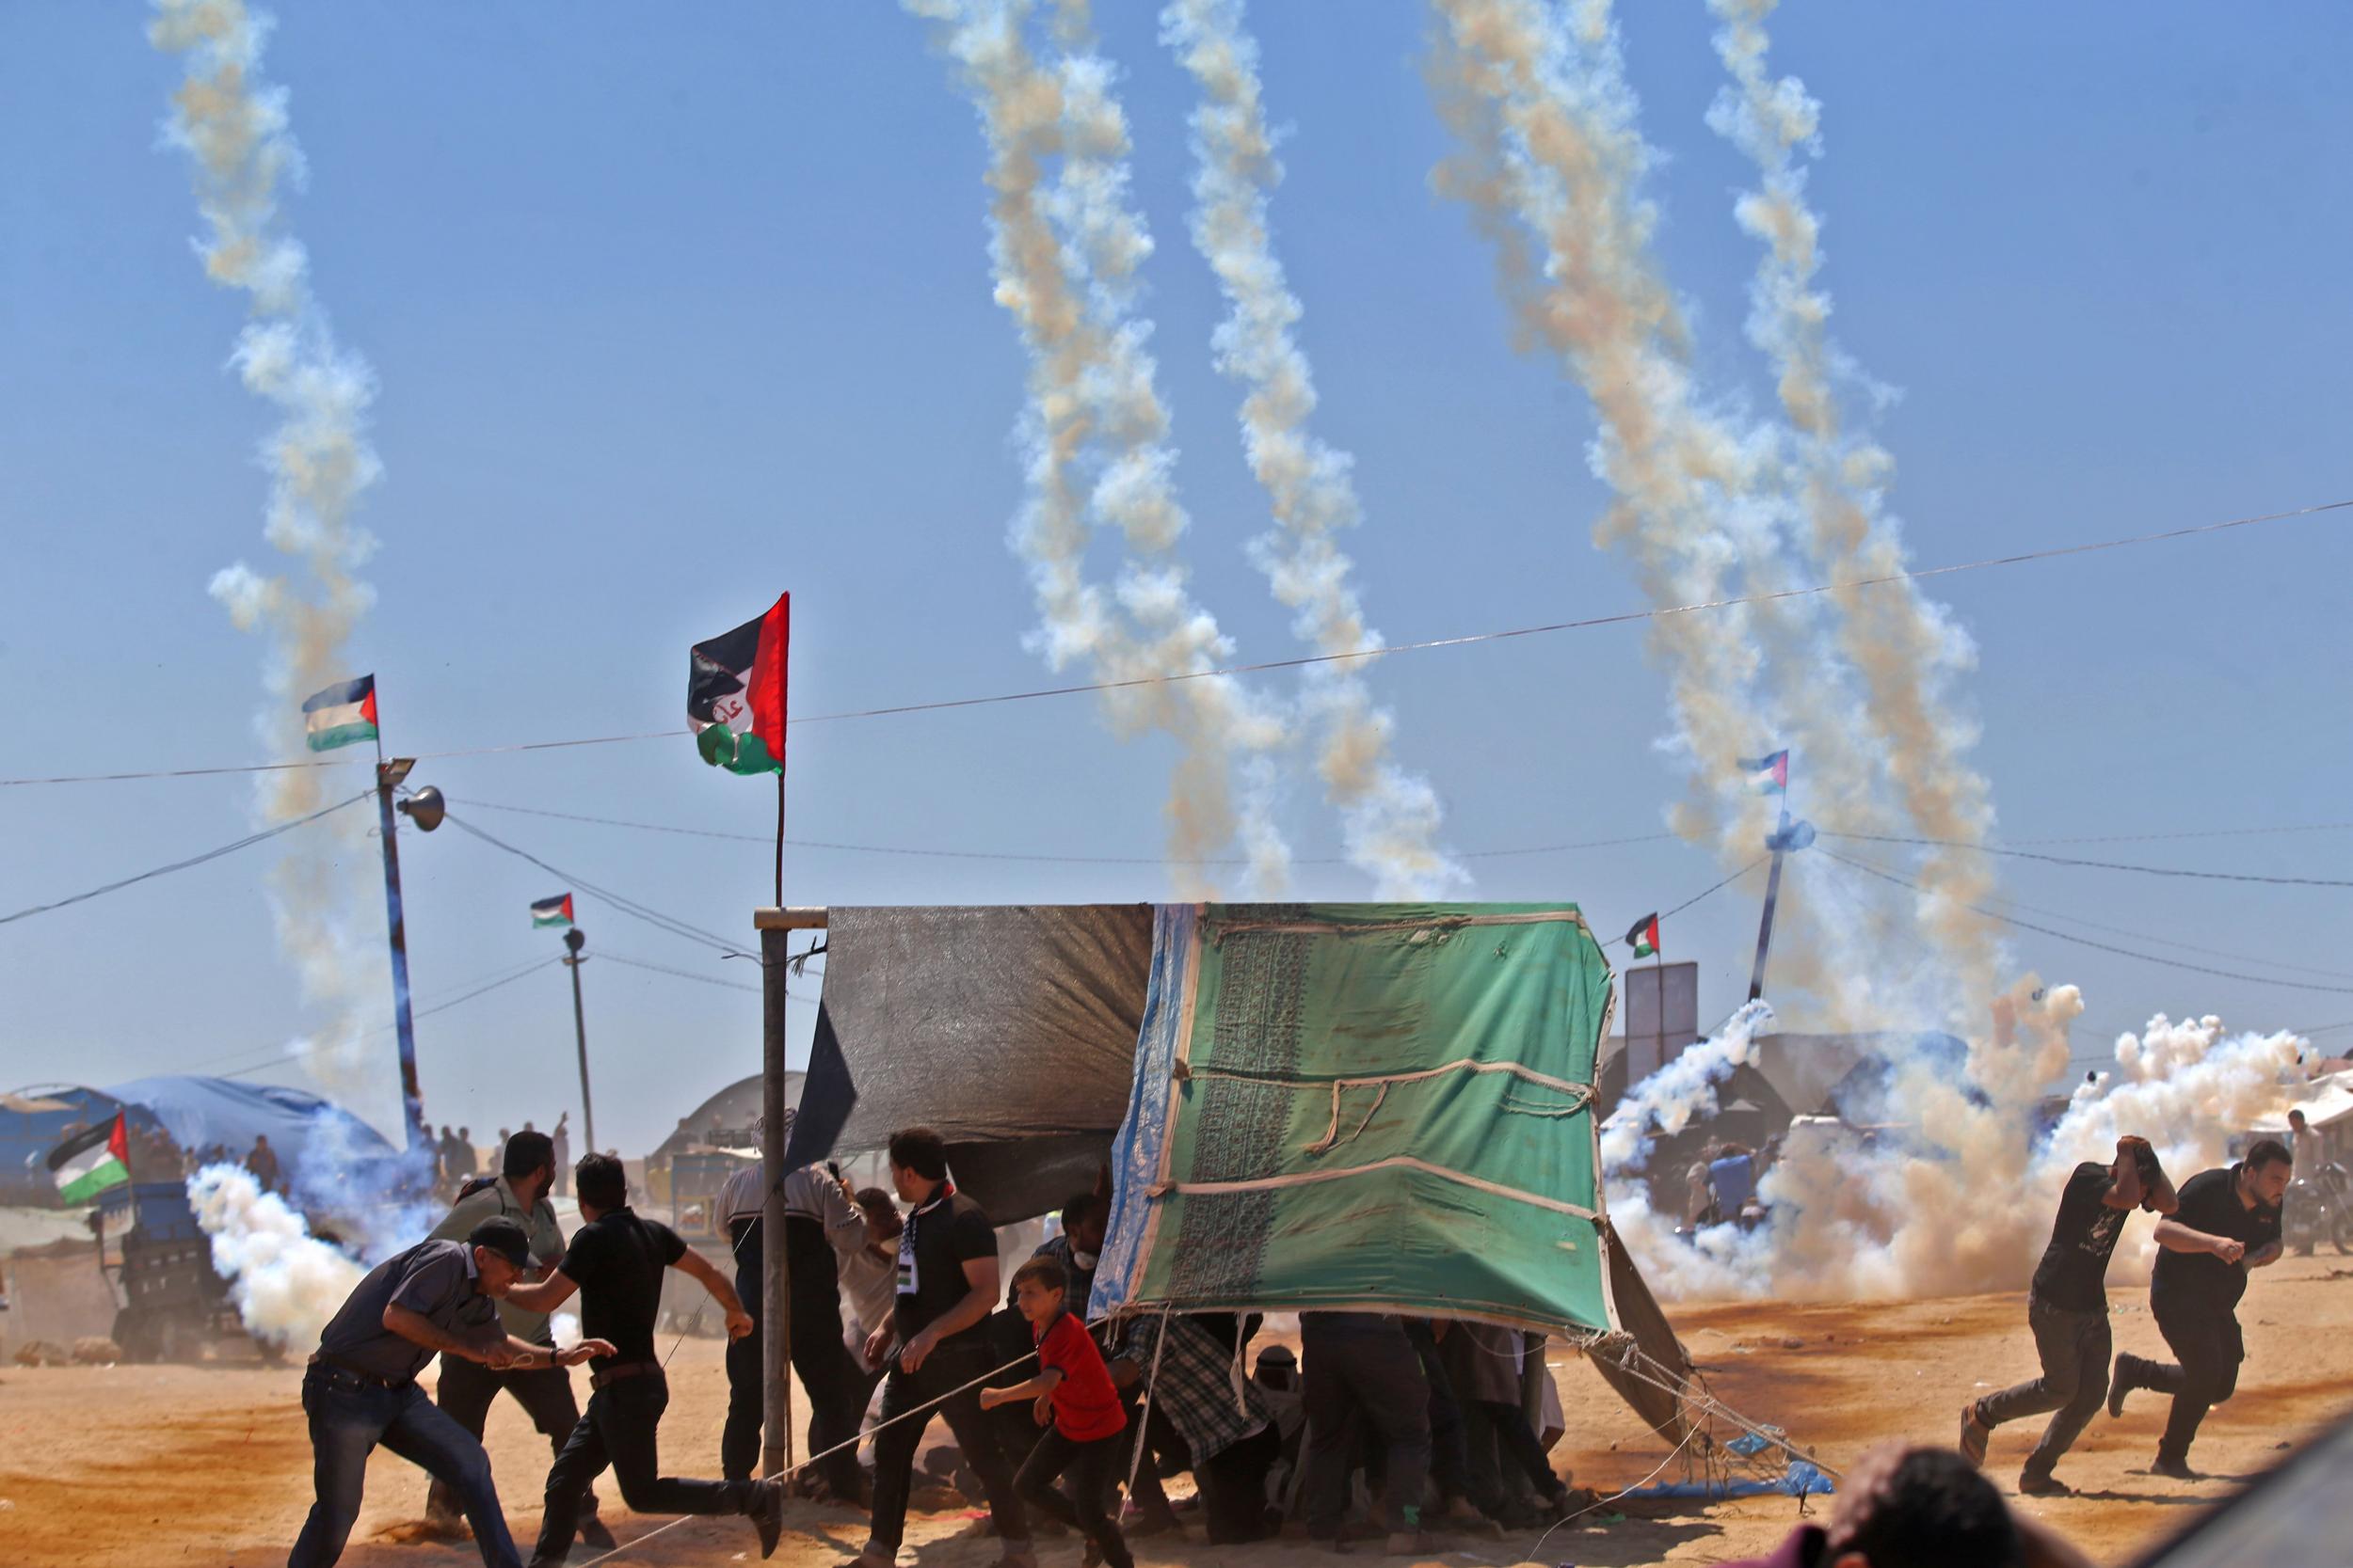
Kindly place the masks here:
<instances>
[{"instance_id":1,"label":"man in grey shirt behind the stooping man in cap","mask_svg":"<svg viewBox=\"0 0 2353 1568\"><path fill-rule=\"evenodd\" d=\"M546 1272L565 1255L565 1232L555 1222L555 1206L548 1204L548 1187L555 1182L555 1140L548 1133L525 1128L506 1140L501 1175L478 1175L459 1190L449 1218L433 1227L433 1239L456 1241L482 1220L508 1218L532 1239L532 1265L522 1272L525 1284L546 1279ZM555 1333L546 1312L525 1312L511 1300L499 1302L499 1321L513 1338L555 1347ZM496 1371L464 1356L442 1356L440 1408L475 1439L489 1420L492 1401L506 1392L532 1425L548 1439L548 1453L562 1453L565 1439L581 1420L579 1401L572 1394L572 1375L560 1366L511 1366ZM435 1523L454 1526L459 1516L456 1493L435 1481L426 1490L426 1516ZM614 1549L612 1530L595 1512L595 1493L581 1497L581 1540L602 1552Z\"/></svg>"}]
</instances>

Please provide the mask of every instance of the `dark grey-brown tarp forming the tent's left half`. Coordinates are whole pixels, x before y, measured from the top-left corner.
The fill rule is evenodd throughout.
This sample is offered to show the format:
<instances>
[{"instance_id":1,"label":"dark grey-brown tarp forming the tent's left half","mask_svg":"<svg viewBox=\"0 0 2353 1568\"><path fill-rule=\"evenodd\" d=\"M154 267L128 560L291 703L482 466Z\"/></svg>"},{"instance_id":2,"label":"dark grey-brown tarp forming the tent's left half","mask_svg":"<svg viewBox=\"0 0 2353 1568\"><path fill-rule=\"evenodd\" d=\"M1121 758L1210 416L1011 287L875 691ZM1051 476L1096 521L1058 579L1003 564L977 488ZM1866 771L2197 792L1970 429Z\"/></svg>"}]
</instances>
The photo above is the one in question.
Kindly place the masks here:
<instances>
[{"instance_id":1,"label":"dark grey-brown tarp forming the tent's left half","mask_svg":"<svg viewBox=\"0 0 2353 1568\"><path fill-rule=\"evenodd\" d=\"M932 1126L998 1225L1059 1208L1127 1114L1151 957L1151 905L831 910L788 1159Z\"/></svg>"}]
</instances>

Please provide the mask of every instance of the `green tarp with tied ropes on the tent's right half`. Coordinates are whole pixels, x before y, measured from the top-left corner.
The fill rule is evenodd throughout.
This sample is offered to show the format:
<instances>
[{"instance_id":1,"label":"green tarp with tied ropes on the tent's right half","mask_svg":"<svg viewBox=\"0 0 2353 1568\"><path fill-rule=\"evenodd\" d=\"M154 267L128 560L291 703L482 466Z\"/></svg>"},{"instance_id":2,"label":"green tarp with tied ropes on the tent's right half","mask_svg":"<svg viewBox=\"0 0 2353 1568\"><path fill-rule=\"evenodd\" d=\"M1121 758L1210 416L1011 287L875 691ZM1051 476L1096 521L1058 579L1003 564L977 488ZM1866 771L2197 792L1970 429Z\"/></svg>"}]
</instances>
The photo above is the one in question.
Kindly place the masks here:
<instances>
[{"instance_id":1,"label":"green tarp with tied ropes on the tent's right half","mask_svg":"<svg viewBox=\"0 0 2353 1568\"><path fill-rule=\"evenodd\" d=\"M1092 1312L1614 1328L1577 905L1165 905Z\"/></svg>"}]
</instances>

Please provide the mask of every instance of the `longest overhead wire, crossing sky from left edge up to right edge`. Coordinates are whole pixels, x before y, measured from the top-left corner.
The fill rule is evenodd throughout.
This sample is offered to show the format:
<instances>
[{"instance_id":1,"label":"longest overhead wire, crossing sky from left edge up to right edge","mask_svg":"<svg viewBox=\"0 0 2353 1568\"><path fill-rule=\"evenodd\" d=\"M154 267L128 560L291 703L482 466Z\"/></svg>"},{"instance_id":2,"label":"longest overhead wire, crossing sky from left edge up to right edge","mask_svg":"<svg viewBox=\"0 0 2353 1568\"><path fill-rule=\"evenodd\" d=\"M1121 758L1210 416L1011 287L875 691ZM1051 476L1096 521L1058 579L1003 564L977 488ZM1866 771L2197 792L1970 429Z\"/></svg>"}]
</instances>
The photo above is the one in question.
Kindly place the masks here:
<instances>
[{"instance_id":1,"label":"longest overhead wire, crossing sky from left edge up to right edge","mask_svg":"<svg viewBox=\"0 0 2353 1568\"><path fill-rule=\"evenodd\" d=\"M2231 529L2249 529L2249 527L2266 524L2266 522L2289 522L2289 520L2297 520L2297 517L2315 517L2320 512L2337 512L2337 510L2346 510L2346 508L2353 508L2353 498L2346 498L2346 501L2325 501L2320 505L2301 505L2301 508L2292 508L2292 510L2285 510L2285 512L2261 512L2261 515L2254 515L2254 517L2231 517L2231 520L2224 520L2224 522L2200 522L2200 524L2191 524L2191 527L2184 527L2184 529L2160 529L2155 534L2132 534L2127 538L2104 538L2104 541L2082 543L2082 545L2052 545L2047 550L2021 550L2017 555L1988 555L1984 559L1953 562L1948 567L1918 567L1918 569L1908 569L1908 571L1887 571L1887 574L1880 574L1880 576L1849 578L1849 581L1842 581L1842 583L1812 583L1812 585L1802 585L1802 588L1777 588L1777 590L1767 590L1767 592L1727 595L1727 597L1720 597L1720 599L1697 599L1697 602L1689 602L1689 604L1666 604L1666 607L1652 607L1652 609L1628 609L1628 611L1619 611L1619 614L1609 614L1609 616L1584 616L1579 621L1551 621L1551 623L1544 623L1544 625L1518 625L1518 628L1508 628L1508 630L1499 630L1499 632L1468 632L1468 635L1459 635L1459 637L1428 637L1424 642L1391 642L1391 644L1384 644L1384 646L1377 646L1377 649L1362 649L1362 651L1355 651L1355 654L1301 654L1301 656L1294 656L1294 658L1264 658L1264 661L1257 661L1257 663L1214 665L1214 668L1207 668L1207 670L1176 670L1176 672L1167 672L1167 675L1134 675L1134 677L1127 677L1127 679L1111 679L1111 682L1078 682L1078 684L1068 684L1068 686L1035 686L1031 691L1000 691L1000 693L991 693L991 696L965 696L965 698L946 698L946 701L932 701L932 703L894 703L894 705L887 705L887 708L854 708L854 710L842 710L842 712L802 715L798 719L791 719L791 724L835 724L835 722L842 722L842 719L882 719L882 717L901 717L901 715L915 715L915 712L948 712L948 710L955 710L955 708L988 708L988 705L1000 705L1000 703L1031 703L1031 701L1038 701L1038 698L1054 698L1054 696L1085 696L1085 693L1094 693L1094 691L1132 691L1136 686L1169 686L1169 684L1195 682L1195 679L1226 679L1226 677L1233 677L1233 675L1266 675L1266 672L1273 672L1273 670L1306 670L1306 668L1329 665L1329 663L1351 665L1351 663L1365 663L1365 661L1374 661L1374 658L1388 658L1391 654L1431 654L1431 651L1438 651L1438 649L1461 649L1461 646L1473 646L1473 644L1482 644L1482 642L1511 642L1511 639L1518 639L1518 637L1546 637L1546 635L1553 635L1553 632L1581 632L1581 630L1593 630L1593 628L1602 628L1602 625L1638 625L1638 623L1645 623L1645 621L1668 621L1673 616L1694 616L1694 614L1715 611L1715 609L1737 609L1741 604L1777 604L1777 602L1784 602L1784 599L1812 599L1812 597L1833 595L1833 592L1854 592L1859 588L1885 588L1885 585L1892 585L1892 583L1920 583L1920 581L1927 581L1927 578L1953 576L1953 574L1960 574L1960 571L1986 571L1991 567L2019 567L2019 564L2026 564L2026 562L2061 559L2061 557L2068 557L2068 555L2099 555L2104 550L2127 550L2127 548L2134 548L2134 545L2153 545L2153 543L2167 543L2167 541L2179 541L2179 538L2195 538L2195 536L2202 536L2202 534L2224 534L2224 531L2231 531ZM654 729L654 731L640 731L640 733L631 733L631 736L584 736L584 738L574 738L574 741L520 741L520 743L508 743L508 745L475 745L475 748L445 750L445 752L416 752L416 757L419 757L419 762L440 762L440 759L449 759L449 757L492 757L492 755L501 755L501 752L544 752L544 750L562 750L562 748L576 748L576 745L619 745L619 743L631 743L631 741L664 741L664 738L675 741L675 738L680 738L685 733L687 733L685 729ZM193 776L209 776L209 773L259 773L259 771L296 769L296 766L339 766L339 762L336 759L320 759L320 762L264 762L264 764L224 766L224 769L162 769L162 771L153 771L153 773L61 773L61 776L52 776L52 778L0 778L0 788L14 788L14 785L64 785L64 783L115 783L115 780L127 780L127 778L193 778Z\"/></svg>"}]
</instances>

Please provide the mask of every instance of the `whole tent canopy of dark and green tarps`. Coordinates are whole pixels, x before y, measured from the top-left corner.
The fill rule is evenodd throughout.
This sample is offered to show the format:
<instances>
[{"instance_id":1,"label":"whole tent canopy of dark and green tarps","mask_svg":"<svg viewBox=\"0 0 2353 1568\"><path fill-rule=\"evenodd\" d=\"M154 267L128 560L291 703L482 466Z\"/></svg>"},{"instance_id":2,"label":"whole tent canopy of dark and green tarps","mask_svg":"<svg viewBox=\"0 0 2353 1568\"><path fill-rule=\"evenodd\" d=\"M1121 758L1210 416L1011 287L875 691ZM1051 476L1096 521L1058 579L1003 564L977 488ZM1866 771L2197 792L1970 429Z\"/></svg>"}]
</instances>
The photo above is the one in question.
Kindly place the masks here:
<instances>
[{"instance_id":1,"label":"whole tent canopy of dark and green tarps","mask_svg":"<svg viewBox=\"0 0 2353 1568\"><path fill-rule=\"evenodd\" d=\"M1577 905L835 907L824 987L791 1164L929 1124L1002 1225L1111 1159L1094 1312L1562 1333L1687 1432L1602 1213L1614 980Z\"/></svg>"}]
</instances>

